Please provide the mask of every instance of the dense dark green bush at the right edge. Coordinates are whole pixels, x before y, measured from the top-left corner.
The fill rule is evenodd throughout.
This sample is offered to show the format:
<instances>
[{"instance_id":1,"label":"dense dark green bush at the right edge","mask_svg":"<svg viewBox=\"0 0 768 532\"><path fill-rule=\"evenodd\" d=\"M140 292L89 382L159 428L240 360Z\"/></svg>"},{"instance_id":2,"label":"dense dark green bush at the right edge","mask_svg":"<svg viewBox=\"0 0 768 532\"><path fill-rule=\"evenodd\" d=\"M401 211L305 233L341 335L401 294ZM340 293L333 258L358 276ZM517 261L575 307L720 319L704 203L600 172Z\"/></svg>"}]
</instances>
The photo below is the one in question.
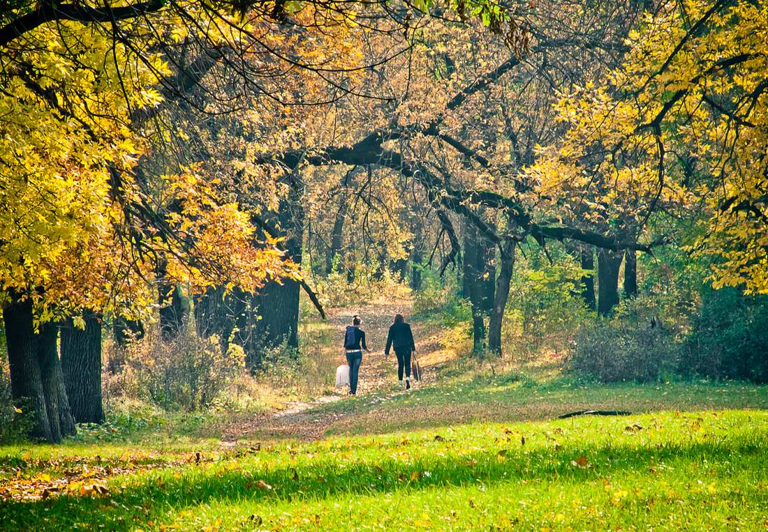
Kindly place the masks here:
<instances>
[{"instance_id":1,"label":"dense dark green bush at the right edge","mask_svg":"<svg viewBox=\"0 0 768 532\"><path fill-rule=\"evenodd\" d=\"M681 373L768 382L768 297L708 289L685 341Z\"/></svg>"}]
</instances>

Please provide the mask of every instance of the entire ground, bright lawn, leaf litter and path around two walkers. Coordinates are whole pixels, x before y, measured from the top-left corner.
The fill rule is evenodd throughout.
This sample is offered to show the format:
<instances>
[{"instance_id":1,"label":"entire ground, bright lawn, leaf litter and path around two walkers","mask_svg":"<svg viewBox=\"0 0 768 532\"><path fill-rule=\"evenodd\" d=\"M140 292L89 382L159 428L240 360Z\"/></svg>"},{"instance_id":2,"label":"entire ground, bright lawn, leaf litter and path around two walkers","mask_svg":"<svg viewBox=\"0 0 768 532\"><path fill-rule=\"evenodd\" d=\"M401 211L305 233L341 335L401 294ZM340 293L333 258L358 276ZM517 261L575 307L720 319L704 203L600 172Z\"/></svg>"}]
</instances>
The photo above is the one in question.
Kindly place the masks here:
<instances>
[{"instance_id":1,"label":"entire ground, bright lawn, leaf litter and path around two walkers","mask_svg":"<svg viewBox=\"0 0 768 532\"><path fill-rule=\"evenodd\" d=\"M432 315L412 320L425 379L404 392L382 351L409 311L336 309L305 330L340 362L362 315L373 353L353 398L327 390L197 435L0 447L0 530L768 528L768 386L478 363L462 326ZM632 413L557 419L583 409Z\"/></svg>"}]
</instances>

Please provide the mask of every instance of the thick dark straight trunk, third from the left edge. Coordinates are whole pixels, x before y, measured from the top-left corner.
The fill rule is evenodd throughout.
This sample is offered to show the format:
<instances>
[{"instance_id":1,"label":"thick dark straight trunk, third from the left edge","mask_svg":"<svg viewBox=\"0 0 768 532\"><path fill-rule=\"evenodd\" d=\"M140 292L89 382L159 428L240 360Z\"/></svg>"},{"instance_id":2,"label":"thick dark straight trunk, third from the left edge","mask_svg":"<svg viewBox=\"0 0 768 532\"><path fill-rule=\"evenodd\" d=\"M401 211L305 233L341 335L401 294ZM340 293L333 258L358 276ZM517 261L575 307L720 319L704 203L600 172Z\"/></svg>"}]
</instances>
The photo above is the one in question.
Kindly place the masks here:
<instances>
[{"instance_id":1,"label":"thick dark straight trunk, third from the left edge","mask_svg":"<svg viewBox=\"0 0 768 532\"><path fill-rule=\"evenodd\" d=\"M101 423L101 320L90 310L83 319L84 329L74 327L72 319L61 327L61 370L74 420Z\"/></svg>"}]
</instances>

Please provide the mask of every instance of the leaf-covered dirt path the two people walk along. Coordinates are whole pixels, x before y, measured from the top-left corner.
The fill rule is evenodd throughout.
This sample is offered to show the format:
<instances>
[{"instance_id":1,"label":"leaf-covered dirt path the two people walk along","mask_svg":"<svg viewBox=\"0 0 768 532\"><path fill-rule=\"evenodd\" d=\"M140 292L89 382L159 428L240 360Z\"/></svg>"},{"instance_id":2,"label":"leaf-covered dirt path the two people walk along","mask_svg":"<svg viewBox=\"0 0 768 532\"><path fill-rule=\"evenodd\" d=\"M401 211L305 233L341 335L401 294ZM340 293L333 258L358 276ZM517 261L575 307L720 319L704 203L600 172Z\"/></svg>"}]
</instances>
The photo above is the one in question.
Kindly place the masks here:
<instances>
[{"instance_id":1,"label":"leaf-covered dirt path the two people walk along","mask_svg":"<svg viewBox=\"0 0 768 532\"><path fill-rule=\"evenodd\" d=\"M314 440L321 438L326 429L334 422L353 415L353 412L348 409L324 410L322 409L323 405L339 400L379 402L382 398L406 393L399 389L397 384L395 353L391 352L389 356L384 356L384 348L386 347L389 326L392 324L395 314L403 314L408 320L411 313L412 301L409 300L329 310L327 324L334 330L334 340L338 340L336 352L339 353L339 364L345 360L341 348L345 327L352 324L352 318L355 314L359 314L362 318L361 328L366 331L366 344L371 353L363 353L362 356L357 396L353 398L347 396L349 387L344 386L335 389L333 395L320 396L307 402L293 402L280 412L272 412L260 416L258 419L253 419L251 422L231 426L225 431L223 438L231 441L237 438L261 435L274 438ZM428 356L432 350L435 350L436 346L433 342L419 345L419 331L415 330L414 333L417 337L416 349L419 360L421 360L422 356ZM428 374L425 376L425 380L429 380L430 377L432 375ZM422 383L414 383L413 386L422 386ZM382 396L380 392L385 392L386 395Z\"/></svg>"}]
</instances>

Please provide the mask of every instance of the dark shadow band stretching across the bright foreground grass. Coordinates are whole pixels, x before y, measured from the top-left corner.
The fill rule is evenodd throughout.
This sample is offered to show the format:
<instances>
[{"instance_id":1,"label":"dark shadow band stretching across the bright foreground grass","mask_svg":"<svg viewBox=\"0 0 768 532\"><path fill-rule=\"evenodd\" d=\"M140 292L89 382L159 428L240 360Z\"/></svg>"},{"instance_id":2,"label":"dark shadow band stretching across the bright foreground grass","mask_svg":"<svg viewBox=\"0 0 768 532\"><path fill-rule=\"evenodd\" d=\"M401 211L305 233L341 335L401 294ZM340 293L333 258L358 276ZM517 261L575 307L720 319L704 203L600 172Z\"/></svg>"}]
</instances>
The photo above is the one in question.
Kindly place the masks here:
<instances>
[{"instance_id":1,"label":"dark shadow band stretching across the bright foreground grass","mask_svg":"<svg viewBox=\"0 0 768 532\"><path fill-rule=\"evenodd\" d=\"M450 448L450 443L446 446ZM387 457L386 452L381 453ZM585 456L588 458L586 467ZM47 501L0 502L3 530L129 530L148 521L170 523L185 508L230 501L294 501L338 498L345 494L386 493L404 488L488 485L509 481L594 481L620 471L647 475L651 461L685 464L728 461L730 474L768 468L766 442L697 442L660 447L525 448L499 453L475 452L461 457L433 455L411 462L386 458L339 462L315 458L307 465L263 468L263 458L224 461L217 468L187 466L151 473L116 488L103 498L62 496ZM278 460L287 460L281 455ZM262 462L263 463L263 462ZM426 473L429 471L429 474ZM266 484L270 488L266 488Z\"/></svg>"}]
</instances>

